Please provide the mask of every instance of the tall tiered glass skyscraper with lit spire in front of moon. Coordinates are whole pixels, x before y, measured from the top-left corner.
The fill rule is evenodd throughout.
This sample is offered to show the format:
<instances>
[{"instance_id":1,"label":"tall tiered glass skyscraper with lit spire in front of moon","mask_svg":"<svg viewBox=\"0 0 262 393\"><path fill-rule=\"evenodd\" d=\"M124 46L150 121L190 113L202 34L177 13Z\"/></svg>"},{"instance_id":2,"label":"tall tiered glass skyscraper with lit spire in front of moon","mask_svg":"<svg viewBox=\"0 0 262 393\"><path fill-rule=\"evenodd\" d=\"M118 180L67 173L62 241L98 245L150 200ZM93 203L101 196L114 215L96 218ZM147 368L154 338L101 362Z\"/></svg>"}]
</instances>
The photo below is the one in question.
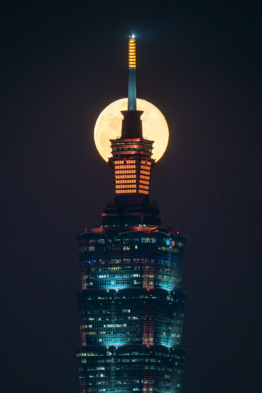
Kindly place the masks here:
<instances>
[{"instance_id":1,"label":"tall tiered glass skyscraper with lit spire in front of moon","mask_svg":"<svg viewBox=\"0 0 262 393\"><path fill-rule=\"evenodd\" d=\"M110 139L108 159L115 199L107 200L101 225L77 237L81 393L180 393L182 388L186 238L172 235L161 224L156 201L149 201L154 141L143 137L135 72L131 36L128 107L121 111L121 136L115 130Z\"/></svg>"}]
</instances>

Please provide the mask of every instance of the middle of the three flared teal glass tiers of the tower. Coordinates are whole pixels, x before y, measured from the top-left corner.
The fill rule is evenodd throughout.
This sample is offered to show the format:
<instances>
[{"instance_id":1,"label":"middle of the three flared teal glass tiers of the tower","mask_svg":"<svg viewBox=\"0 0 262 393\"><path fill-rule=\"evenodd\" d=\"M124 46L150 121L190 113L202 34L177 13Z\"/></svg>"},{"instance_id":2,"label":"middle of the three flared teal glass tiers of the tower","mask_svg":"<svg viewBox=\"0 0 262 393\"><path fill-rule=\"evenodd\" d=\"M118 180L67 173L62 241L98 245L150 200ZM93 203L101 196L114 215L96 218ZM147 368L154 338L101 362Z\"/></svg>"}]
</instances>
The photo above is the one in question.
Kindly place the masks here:
<instances>
[{"instance_id":1,"label":"middle of the three flared teal glass tiers of the tower","mask_svg":"<svg viewBox=\"0 0 262 393\"><path fill-rule=\"evenodd\" d=\"M184 300L184 292L173 295L154 292L153 297L139 289L113 294L84 292L78 296L83 340L103 344L143 342L150 345L155 342L180 345ZM133 321L135 329L132 328Z\"/></svg>"}]
</instances>

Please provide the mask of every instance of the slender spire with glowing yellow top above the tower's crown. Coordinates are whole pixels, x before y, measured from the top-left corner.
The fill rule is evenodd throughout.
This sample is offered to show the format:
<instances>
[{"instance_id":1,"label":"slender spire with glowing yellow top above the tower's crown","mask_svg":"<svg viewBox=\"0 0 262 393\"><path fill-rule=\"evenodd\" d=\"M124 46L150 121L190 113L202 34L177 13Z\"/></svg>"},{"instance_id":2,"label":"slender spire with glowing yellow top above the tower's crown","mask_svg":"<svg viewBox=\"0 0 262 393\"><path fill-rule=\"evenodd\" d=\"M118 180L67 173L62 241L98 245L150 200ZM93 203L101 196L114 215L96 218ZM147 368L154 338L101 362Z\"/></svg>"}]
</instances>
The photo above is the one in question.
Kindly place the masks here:
<instances>
[{"instance_id":1,"label":"slender spire with glowing yellow top above the tower's crown","mask_svg":"<svg viewBox=\"0 0 262 393\"><path fill-rule=\"evenodd\" d=\"M128 43L128 110L136 111L136 44L134 35Z\"/></svg>"}]
</instances>

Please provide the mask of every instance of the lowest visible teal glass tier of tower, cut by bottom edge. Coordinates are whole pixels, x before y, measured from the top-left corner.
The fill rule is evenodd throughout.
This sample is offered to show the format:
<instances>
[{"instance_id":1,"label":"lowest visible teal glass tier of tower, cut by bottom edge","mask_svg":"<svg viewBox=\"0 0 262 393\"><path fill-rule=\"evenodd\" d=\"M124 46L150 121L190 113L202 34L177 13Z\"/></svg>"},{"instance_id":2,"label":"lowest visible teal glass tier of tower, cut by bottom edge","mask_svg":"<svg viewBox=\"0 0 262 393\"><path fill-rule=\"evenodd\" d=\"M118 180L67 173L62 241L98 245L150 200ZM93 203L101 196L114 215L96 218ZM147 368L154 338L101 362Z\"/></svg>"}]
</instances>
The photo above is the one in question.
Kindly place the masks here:
<instances>
[{"instance_id":1,"label":"lowest visible teal glass tier of tower, cut by bottom edge","mask_svg":"<svg viewBox=\"0 0 262 393\"><path fill-rule=\"evenodd\" d=\"M138 393L180 393L182 386L185 350L159 348L144 350L138 346L121 347L104 351L78 350L80 384L85 387L81 393L138 392ZM150 353L149 353L150 351ZM172 361L170 361L172 360Z\"/></svg>"}]
</instances>

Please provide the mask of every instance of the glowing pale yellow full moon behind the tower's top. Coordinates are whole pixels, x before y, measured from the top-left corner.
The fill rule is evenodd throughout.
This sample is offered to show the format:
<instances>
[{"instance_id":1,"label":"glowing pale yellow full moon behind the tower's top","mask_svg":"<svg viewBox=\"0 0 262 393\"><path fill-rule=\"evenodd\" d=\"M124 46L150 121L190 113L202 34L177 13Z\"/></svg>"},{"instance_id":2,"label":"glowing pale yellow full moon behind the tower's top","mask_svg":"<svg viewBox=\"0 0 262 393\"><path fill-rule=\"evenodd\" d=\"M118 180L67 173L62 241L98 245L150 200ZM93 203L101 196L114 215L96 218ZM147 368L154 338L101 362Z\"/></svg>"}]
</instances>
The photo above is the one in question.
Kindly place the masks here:
<instances>
[{"instance_id":1,"label":"glowing pale yellow full moon behind the tower's top","mask_svg":"<svg viewBox=\"0 0 262 393\"><path fill-rule=\"evenodd\" d=\"M136 99L137 110L144 111L141 116L143 137L154 140L152 158L158 161L165 152L168 143L168 126L164 115L152 103ZM127 110L128 99L122 98L108 105L98 116L94 138L98 153L108 161L112 156L110 140L121 136L123 115L120 111Z\"/></svg>"}]
</instances>

